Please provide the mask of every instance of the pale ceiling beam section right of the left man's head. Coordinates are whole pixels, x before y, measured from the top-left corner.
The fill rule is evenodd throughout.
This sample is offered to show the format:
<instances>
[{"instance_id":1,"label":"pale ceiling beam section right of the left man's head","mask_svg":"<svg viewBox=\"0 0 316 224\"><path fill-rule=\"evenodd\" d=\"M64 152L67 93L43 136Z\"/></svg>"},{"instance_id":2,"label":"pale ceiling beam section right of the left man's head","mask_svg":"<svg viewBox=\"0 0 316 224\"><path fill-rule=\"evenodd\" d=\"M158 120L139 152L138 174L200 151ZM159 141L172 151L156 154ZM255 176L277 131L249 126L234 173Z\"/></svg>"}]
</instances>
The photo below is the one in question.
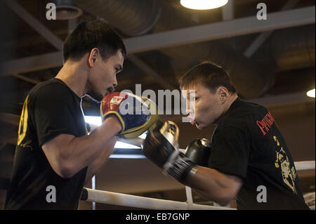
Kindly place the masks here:
<instances>
[{"instance_id":1,"label":"pale ceiling beam section right of the left man's head","mask_svg":"<svg viewBox=\"0 0 316 224\"><path fill-rule=\"evenodd\" d=\"M256 16L251 16L158 34L132 37L124 41L129 53L139 53L312 23L315 23L315 6L270 13L268 20L258 20Z\"/></svg>"}]
</instances>

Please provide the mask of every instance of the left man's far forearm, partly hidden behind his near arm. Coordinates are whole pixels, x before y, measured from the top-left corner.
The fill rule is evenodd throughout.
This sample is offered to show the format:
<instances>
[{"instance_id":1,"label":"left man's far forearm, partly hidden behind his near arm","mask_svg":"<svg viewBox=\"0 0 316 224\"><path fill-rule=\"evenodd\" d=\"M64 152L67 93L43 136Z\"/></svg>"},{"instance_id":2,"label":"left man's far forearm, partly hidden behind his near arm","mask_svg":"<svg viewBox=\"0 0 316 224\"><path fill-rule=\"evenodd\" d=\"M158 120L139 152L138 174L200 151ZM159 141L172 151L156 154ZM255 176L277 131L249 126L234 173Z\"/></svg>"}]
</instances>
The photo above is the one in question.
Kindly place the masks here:
<instances>
[{"instance_id":1,"label":"left man's far forearm, partly hidden behind his near arm","mask_svg":"<svg viewBox=\"0 0 316 224\"><path fill-rule=\"evenodd\" d=\"M117 137L114 137L112 140L110 140L110 143L105 147L105 150L103 150L103 152L101 152L101 154L93 162L91 162L91 164L88 165L88 171L86 173L86 182L88 180L91 180L91 178L100 171L102 166L105 164L107 158L110 157L110 154L112 154L116 142Z\"/></svg>"}]
</instances>

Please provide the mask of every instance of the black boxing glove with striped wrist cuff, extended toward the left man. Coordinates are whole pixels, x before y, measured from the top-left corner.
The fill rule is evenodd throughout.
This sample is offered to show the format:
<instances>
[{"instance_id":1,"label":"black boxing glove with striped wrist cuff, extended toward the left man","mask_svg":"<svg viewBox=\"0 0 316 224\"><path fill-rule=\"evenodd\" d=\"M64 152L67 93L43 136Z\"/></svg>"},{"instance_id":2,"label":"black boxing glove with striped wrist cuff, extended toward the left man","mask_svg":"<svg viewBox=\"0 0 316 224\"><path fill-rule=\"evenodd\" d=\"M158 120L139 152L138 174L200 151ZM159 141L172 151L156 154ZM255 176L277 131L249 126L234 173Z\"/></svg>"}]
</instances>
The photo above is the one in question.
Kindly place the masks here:
<instances>
[{"instance_id":1,"label":"black boxing glove with striped wrist cuff, extended toward the left man","mask_svg":"<svg viewBox=\"0 0 316 224\"><path fill-rule=\"evenodd\" d=\"M143 154L154 164L183 183L195 163L178 150L178 126L172 121L157 121L143 142Z\"/></svg>"}]
</instances>

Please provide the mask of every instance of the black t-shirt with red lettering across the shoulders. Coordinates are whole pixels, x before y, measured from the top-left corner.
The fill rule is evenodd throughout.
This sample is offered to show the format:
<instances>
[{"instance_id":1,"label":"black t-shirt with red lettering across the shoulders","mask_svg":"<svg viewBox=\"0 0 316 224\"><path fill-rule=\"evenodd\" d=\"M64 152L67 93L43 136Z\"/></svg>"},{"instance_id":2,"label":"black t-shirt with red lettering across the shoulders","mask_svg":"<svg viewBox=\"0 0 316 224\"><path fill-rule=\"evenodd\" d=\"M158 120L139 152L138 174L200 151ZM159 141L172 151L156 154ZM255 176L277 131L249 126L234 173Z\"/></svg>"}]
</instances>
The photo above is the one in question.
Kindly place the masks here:
<instances>
[{"instance_id":1,"label":"black t-shirt with red lettering across the shoulders","mask_svg":"<svg viewBox=\"0 0 316 224\"><path fill-rule=\"evenodd\" d=\"M209 168L242 178L237 209L308 209L275 120L237 98L213 131Z\"/></svg>"}]
</instances>

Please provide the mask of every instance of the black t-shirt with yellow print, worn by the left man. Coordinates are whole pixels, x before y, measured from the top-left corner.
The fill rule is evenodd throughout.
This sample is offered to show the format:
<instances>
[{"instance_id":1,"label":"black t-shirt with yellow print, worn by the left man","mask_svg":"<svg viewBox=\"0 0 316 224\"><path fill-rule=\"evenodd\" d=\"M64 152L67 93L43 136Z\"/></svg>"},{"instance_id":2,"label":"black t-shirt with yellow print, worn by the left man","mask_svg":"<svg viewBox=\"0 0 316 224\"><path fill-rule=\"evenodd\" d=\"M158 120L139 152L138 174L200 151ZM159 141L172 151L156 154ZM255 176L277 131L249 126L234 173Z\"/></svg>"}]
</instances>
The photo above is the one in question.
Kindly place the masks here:
<instances>
[{"instance_id":1,"label":"black t-shirt with yellow print, worn by the left man","mask_svg":"<svg viewBox=\"0 0 316 224\"><path fill-rule=\"evenodd\" d=\"M77 209L87 167L72 178L53 171L41 146L59 134L86 135L81 98L59 79L38 84L23 105L5 209Z\"/></svg>"}]
</instances>

